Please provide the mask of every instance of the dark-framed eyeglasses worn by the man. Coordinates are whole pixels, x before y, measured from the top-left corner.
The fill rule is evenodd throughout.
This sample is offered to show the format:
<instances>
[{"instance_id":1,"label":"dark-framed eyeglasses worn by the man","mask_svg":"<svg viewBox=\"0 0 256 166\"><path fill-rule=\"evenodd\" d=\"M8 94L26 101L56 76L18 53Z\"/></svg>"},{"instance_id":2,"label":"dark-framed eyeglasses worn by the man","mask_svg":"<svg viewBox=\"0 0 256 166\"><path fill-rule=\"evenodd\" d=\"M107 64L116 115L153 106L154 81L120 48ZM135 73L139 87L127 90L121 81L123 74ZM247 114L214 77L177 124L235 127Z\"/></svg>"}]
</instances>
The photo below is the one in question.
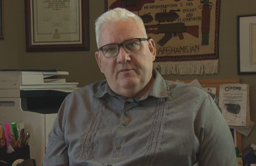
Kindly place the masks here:
<instances>
[{"instance_id":1,"label":"dark-framed eyeglasses worn by the man","mask_svg":"<svg viewBox=\"0 0 256 166\"><path fill-rule=\"evenodd\" d=\"M149 39L149 38L148 38ZM140 49L140 42L148 40L146 38L135 38L124 41L120 44L108 44L99 48L107 58L117 56L119 47L123 46L126 52L135 52Z\"/></svg>"}]
</instances>

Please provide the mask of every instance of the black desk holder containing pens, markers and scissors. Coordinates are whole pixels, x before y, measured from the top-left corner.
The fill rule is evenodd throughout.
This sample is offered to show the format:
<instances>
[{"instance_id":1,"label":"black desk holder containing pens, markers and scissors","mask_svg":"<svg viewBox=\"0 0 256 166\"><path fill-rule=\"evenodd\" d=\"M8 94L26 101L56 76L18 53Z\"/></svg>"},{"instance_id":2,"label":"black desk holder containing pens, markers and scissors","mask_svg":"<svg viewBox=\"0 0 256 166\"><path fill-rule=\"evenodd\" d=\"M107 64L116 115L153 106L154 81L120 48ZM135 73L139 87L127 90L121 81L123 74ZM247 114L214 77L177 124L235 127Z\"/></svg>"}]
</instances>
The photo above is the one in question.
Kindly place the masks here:
<instances>
[{"instance_id":1,"label":"black desk holder containing pens, markers and scissors","mask_svg":"<svg viewBox=\"0 0 256 166\"><path fill-rule=\"evenodd\" d=\"M11 154L6 153L7 148L0 148L0 160L12 164L15 160L21 159L30 159L30 150L29 145L25 147L16 148Z\"/></svg>"}]
</instances>

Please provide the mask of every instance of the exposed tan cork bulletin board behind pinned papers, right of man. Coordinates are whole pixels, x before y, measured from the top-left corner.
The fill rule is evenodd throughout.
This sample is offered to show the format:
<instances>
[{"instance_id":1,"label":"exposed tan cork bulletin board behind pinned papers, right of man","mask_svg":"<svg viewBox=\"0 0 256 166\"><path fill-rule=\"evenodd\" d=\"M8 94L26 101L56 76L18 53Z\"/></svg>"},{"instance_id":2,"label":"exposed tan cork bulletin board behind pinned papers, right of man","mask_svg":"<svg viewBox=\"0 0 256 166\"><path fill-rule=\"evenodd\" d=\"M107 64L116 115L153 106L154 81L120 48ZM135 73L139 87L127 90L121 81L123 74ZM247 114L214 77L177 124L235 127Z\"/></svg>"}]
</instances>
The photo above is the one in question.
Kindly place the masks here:
<instances>
[{"instance_id":1,"label":"exposed tan cork bulletin board behind pinned papers, right of man","mask_svg":"<svg viewBox=\"0 0 256 166\"><path fill-rule=\"evenodd\" d=\"M187 79L187 80L179 80L185 83L190 83L194 79ZM176 80L170 80L170 81L176 81ZM216 88L216 95L219 97L219 91L220 91L220 84L225 83L240 83L240 79L198 79L199 83L203 87L215 87ZM236 132L236 141L237 141L237 147L239 149L239 153L242 153L242 138L241 133Z\"/></svg>"}]
</instances>

